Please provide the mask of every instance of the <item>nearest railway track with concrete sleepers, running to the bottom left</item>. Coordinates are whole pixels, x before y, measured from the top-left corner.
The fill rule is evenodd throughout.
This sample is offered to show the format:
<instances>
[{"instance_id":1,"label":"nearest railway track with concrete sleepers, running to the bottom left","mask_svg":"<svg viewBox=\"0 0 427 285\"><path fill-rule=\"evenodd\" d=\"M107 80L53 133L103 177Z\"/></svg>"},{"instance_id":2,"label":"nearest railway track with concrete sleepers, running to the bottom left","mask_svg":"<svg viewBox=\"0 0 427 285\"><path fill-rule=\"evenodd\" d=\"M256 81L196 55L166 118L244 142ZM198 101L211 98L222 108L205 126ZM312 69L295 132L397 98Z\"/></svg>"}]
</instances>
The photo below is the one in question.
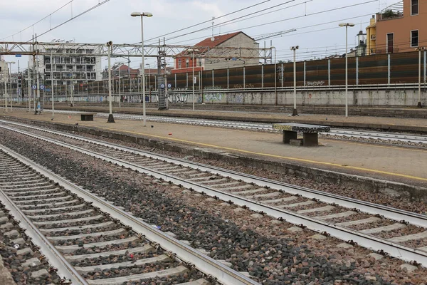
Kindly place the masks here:
<instances>
[{"instance_id":1,"label":"nearest railway track with concrete sleepers, running to the bottom left","mask_svg":"<svg viewBox=\"0 0 427 285\"><path fill-rule=\"evenodd\" d=\"M70 284L258 284L4 146L0 165L0 200Z\"/></svg>"}]
</instances>

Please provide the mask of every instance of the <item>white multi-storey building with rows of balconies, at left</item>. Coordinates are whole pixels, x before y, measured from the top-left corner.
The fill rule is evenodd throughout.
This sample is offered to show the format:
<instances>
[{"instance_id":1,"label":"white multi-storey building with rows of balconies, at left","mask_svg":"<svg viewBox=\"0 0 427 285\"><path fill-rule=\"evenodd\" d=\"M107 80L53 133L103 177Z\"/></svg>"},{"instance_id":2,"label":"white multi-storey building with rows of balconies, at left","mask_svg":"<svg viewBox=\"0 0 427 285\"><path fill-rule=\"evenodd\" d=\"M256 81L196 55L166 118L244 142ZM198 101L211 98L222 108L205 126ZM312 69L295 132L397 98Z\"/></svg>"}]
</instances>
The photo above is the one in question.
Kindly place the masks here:
<instances>
[{"instance_id":1,"label":"white multi-storey building with rows of balconies, at left","mask_svg":"<svg viewBox=\"0 0 427 285\"><path fill-rule=\"evenodd\" d=\"M54 85L70 85L72 81L77 84L102 80L101 58L91 56L96 52L95 46L64 48L59 41L58 46L41 51L50 53L51 50L53 53L79 53L81 56L52 56L52 62L51 56L39 56L38 72L47 86L51 86L51 71ZM33 66L32 62L30 66Z\"/></svg>"}]
</instances>

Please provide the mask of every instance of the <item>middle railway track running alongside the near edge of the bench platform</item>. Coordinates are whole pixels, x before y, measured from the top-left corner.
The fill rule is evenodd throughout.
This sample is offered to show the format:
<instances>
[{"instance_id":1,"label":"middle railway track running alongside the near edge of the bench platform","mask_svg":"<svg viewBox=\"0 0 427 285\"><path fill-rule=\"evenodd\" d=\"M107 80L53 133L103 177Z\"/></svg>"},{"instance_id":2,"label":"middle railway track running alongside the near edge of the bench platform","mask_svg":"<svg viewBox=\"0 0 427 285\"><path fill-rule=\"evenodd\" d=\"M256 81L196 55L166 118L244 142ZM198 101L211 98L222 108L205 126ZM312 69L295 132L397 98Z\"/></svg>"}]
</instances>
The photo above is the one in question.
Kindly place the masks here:
<instances>
[{"instance_id":1,"label":"middle railway track running alongside the near edge of the bench platform","mask_svg":"<svg viewBox=\"0 0 427 285\"><path fill-rule=\"evenodd\" d=\"M2 122L1 128L68 147L122 167L153 175L260 214L285 219L300 228L359 244L383 254L427 264L427 216L332 195L253 175L201 165L77 135ZM18 128L20 129L18 129ZM25 129L25 130L24 130ZM300 227L300 228L299 228Z\"/></svg>"}]
</instances>

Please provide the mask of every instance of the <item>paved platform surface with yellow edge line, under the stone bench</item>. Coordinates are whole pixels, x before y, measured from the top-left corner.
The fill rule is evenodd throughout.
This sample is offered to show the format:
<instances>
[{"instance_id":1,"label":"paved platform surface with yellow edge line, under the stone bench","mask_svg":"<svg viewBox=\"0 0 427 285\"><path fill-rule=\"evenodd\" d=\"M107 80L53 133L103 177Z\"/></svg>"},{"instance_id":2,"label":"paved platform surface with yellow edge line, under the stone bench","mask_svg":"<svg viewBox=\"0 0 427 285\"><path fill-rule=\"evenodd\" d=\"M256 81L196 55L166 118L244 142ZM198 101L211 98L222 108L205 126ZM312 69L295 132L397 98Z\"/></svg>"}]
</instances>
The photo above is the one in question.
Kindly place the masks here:
<instances>
[{"instance_id":1,"label":"paved platform surface with yellow edge line, under the stone bench","mask_svg":"<svg viewBox=\"0 0 427 285\"><path fill-rule=\"evenodd\" d=\"M2 113L1 113L2 114ZM355 175L405 182L425 187L427 185L427 150L368 145L361 142L347 142L320 138L319 147L304 148L284 145L282 133L262 133L251 130L232 130L196 125L118 120L107 123L107 118L95 118L93 122L81 122L79 115L55 115L51 113L33 115L23 110L8 113L31 120L48 123L65 123L80 126L141 135L147 138L216 149L223 152L236 152L239 155L259 157L264 160L292 162L297 165L346 172ZM1 118L1 115L0 115ZM153 125L153 128L151 128ZM169 135L170 134L170 135Z\"/></svg>"}]
</instances>

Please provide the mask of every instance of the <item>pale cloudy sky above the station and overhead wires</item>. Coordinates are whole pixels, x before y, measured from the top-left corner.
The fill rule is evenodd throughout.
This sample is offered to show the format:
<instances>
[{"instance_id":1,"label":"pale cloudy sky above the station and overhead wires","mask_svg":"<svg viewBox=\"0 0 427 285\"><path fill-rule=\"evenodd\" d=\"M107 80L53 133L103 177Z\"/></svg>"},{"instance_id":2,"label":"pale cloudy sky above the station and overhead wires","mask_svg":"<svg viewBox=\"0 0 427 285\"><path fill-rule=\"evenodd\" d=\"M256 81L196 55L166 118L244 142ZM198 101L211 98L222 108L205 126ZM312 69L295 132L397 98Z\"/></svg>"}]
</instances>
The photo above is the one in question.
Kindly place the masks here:
<instances>
[{"instance_id":1,"label":"pale cloudy sky above the station and overhead wires","mask_svg":"<svg viewBox=\"0 0 427 285\"><path fill-rule=\"evenodd\" d=\"M365 32L371 15L399 0L389 0L390 3L386 0L110 0L99 5L102 1L105 0L1 0L0 41L28 41L33 33L40 35L72 19L39 37L38 41L63 39L77 43L137 43L141 41L140 21L130 14L138 11L154 15L144 18L146 43L157 43L157 38L163 38L167 33L171 33L165 36L168 44L193 45L211 37L212 33L215 36L243 31L248 36L257 37L295 28L297 31L292 33L258 42L260 46L264 46L264 42L267 47L270 44L275 46L277 61L292 59L290 46L300 46L297 60L303 61L344 53L345 28L338 26L340 22L355 24L349 28L348 36L349 48L354 48L357 46L357 33L361 29ZM96 8L92 11L75 18L94 6ZM245 9L249 6L253 7ZM244 10L231 14L241 9ZM226 14L230 15L223 16ZM218 19L212 20L212 17ZM199 24L205 21L205 24ZM196 24L199 25L187 28ZM181 28L186 29L176 32ZM200 29L203 31L191 33ZM5 59L17 61L13 56L5 56ZM20 61L21 68L25 68L27 59L22 57ZM113 58L112 63L115 61L120 59ZM130 66L138 68L140 62L135 59ZM156 64L152 58L147 58L146 63ZM173 64L172 59L168 64ZM104 59L102 67L106 65ZM12 72L17 70L18 65L12 65Z\"/></svg>"}]
</instances>

